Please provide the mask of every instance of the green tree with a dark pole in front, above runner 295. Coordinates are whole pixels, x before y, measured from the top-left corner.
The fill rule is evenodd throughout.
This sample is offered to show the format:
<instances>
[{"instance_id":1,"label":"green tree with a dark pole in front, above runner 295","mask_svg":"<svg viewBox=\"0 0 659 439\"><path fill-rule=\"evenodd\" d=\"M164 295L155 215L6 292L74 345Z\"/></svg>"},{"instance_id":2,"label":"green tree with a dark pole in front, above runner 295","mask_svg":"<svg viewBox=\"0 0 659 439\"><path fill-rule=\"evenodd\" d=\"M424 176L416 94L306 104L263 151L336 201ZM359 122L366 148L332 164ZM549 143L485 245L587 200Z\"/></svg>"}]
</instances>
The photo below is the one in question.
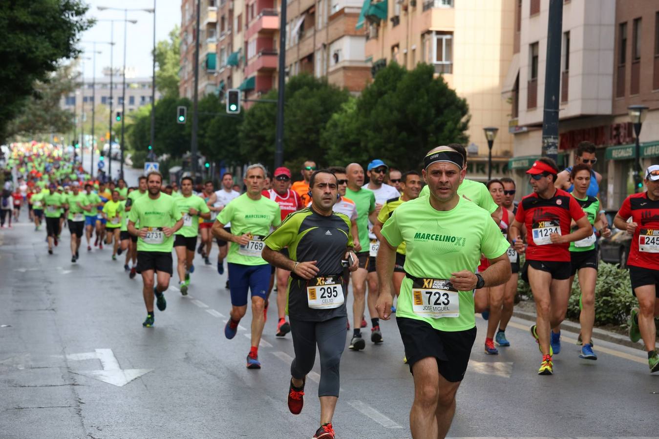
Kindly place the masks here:
<instances>
[{"instance_id":1,"label":"green tree with a dark pole in front, above runner 295","mask_svg":"<svg viewBox=\"0 0 659 439\"><path fill-rule=\"evenodd\" d=\"M266 93L264 99L276 100L277 90ZM284 90L284 165L297 169L304 159L326 164L326 154L320 148L320 133L331 115L348 99L347 90L310 74L289 79ZM252 163L272 165L276 122L277 105L254 104L241 125L241 155Z\"/></svg>"}]
</instances>

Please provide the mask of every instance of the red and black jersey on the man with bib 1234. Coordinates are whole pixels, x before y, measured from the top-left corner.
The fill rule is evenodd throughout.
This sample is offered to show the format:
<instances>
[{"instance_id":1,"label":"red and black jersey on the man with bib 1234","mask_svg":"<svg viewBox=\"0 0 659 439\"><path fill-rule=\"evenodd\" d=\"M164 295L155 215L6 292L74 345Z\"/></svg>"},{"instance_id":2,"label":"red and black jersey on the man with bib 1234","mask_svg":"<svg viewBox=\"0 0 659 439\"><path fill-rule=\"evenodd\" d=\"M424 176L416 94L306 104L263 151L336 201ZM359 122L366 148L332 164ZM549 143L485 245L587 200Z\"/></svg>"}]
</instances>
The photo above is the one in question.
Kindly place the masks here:
<instances>
[{"instance_id":1,"label":"red and black jersey on the man with bib 1234","mask_svg":"<svg viewBox=\"0 0 659 439\"><path fill-rule=\"evenodd\" d=\"M527 226L527 260L569 262L569 242L552 244L550 234L569 234L572 220L584 215L577 200L561 189L549 199L538 197L535 192L524 197L515 219Z\"/></svg>"}]
</instances>

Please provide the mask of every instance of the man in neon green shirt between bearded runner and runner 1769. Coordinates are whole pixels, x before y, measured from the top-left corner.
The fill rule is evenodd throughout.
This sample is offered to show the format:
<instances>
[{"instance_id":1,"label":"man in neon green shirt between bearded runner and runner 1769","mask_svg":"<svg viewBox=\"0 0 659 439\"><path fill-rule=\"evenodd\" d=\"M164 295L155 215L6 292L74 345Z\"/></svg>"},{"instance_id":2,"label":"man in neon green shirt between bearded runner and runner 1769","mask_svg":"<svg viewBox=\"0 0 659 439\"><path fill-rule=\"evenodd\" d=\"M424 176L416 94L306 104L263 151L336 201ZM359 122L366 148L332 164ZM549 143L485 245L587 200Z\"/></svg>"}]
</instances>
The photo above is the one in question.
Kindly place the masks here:
<instances>
[{"instance_id":1,"label":"man in neon green shirt between bearded runner and runner 1769","mask_svg":"<svg viewBox=\"0 0 659 439\"><path fill-rule=\"evenodd\" d=\"M199 217L209 219L210 209L202 197L192 195L192 177L181 178L181 191L183 194L175 200L183 215L183 227L174 234L174 250L177 257L179 290L183 296L187 296L190 285L190 268L194 259L194 249L197 247Z\"/></svg>"}]
</instances>

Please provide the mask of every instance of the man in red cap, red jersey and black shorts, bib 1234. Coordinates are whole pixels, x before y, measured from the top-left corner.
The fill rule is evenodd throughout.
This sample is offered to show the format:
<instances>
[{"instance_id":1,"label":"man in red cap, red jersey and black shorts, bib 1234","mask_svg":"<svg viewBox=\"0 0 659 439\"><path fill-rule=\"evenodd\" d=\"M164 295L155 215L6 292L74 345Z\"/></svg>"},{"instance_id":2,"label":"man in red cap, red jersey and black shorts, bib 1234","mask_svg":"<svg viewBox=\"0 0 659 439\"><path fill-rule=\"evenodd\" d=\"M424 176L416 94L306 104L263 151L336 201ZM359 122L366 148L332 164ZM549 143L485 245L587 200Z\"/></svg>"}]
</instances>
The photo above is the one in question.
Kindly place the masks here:
<instances>
[{"instance_id":1,"label":"man in red cap, red jersey and black shorts, bib 1234","mask_svg":"<svg viewBox=\"0 0 659 439\"><path fill-rule=\"evenodd\" d=\"M556 162L542 157L527 170L533 193L522 199L510 225L509 236L518 253L525 251L519 229L525 225L527 235L527 276L536 304L536 324L530 332L542 353L538 374L554 373L552 355L560 351L560 339L550 333L565 319L570 296L569 243L583 240L592 234L583 209L576 199L564 190L554 187L558 168ZM570 232L571 222L577 230ZM558 352L557 352L558 353Z\"/></svg>"}]
</instances>

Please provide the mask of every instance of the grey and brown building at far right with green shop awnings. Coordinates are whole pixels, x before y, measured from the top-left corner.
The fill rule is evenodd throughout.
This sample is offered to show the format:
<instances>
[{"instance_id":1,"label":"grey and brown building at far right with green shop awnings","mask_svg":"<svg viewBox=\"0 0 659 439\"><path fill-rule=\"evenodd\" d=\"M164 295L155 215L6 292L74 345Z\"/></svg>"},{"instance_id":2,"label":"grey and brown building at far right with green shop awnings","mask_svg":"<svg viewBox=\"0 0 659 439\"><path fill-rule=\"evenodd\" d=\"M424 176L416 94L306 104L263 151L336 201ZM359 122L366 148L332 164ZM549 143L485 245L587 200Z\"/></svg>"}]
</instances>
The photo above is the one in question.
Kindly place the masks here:
<instances>
[{"instance_id":1,"label":"grey and brown building at far right with green shop awnings","mask_svg":"<svg viewBox=\"0 0 659 439\"><path fill-rule=\"evenodd\" d=\"M509 163L518 194L530 186L524 171L540 157L547 50L548 0L515 0L515 55L503 97L511 103ZM636 153L629 105L649 107L641 131L645 167L659 156L659 1L568 0L563 3L559 167L574 162L582 141L597 145L594 168L600 198L617 208L633 193Z\"/></svg>"}]
</instances>

